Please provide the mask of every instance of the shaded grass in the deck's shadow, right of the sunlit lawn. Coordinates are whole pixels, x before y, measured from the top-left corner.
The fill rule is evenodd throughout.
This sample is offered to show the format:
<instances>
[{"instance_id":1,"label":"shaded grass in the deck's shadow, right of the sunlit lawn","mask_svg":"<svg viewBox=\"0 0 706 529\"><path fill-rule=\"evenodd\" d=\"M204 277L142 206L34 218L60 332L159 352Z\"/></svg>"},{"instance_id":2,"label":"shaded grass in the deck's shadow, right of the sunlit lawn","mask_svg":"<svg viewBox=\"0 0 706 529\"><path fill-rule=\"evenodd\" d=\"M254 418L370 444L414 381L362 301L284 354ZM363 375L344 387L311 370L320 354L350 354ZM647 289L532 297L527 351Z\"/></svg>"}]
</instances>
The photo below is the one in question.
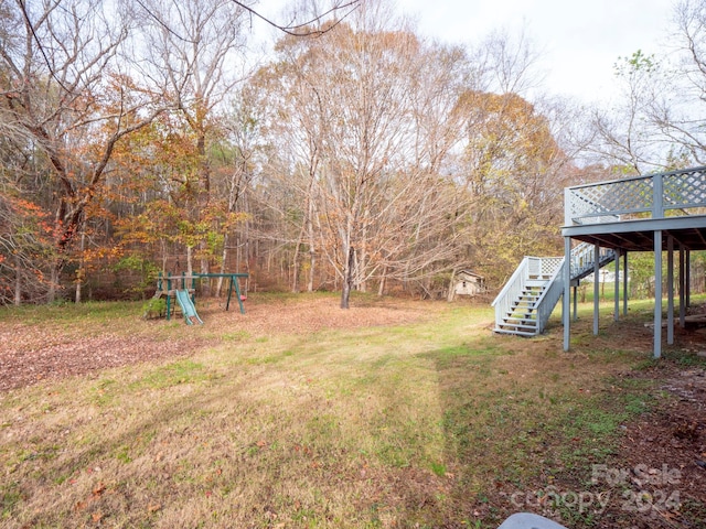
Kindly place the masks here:
<instances>
[{"instance_id":1,"label":"shaded grass in the deck's shadow, right of the sunlit lawn","mask_svg":"<svg viewBox=\"0 0 706 529\"><path fill-rule=\"evenodd\" d=\"M682 332L662 360L652 360L644 326L650 312L639 305L613 322L603 311L599 336L587 312L574 324L571 353L560 352L555 319L537 338L499 337L491 346L481 338L480 352L469 346L427 355L439 373L446 461L454 475L446 510L431 526L462 517L458 527L494 528L528 510L591 528L609 494L620 504L620 490L593 483L593 465L616 466L627 424L657 406L660 373L641 379L616 374L706 366L694 354L704 337ZM638 515L620 520L644 522Z\"/></svg>"}]
</instances>

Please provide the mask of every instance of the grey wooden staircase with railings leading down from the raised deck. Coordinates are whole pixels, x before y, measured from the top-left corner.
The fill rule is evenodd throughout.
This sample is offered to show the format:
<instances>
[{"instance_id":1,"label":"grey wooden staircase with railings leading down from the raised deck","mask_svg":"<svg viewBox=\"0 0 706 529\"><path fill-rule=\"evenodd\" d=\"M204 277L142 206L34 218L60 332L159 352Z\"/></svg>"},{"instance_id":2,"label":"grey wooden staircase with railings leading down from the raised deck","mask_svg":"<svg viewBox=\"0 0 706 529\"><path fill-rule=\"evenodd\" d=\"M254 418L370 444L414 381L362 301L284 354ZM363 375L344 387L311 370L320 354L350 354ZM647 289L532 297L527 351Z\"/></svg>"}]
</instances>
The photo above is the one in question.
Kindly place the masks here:
<instances>
[{"instance_id":1,"label":"grey wooden staircase with railings leading down from the raised deck","mask_svg":"<svg viewBox=\"0 0 706 529\"><path fill-rule=\"evenodd\" d=\"M595 270L595 248L580 244L571 250L571 281L579 281ZM614 252L601 248L599 268L614 260ZM536 336L546 324L564 293L563 257L525 257L503 290L498 294L495 327L498 334Z\"/></svg>"}]
</instances>

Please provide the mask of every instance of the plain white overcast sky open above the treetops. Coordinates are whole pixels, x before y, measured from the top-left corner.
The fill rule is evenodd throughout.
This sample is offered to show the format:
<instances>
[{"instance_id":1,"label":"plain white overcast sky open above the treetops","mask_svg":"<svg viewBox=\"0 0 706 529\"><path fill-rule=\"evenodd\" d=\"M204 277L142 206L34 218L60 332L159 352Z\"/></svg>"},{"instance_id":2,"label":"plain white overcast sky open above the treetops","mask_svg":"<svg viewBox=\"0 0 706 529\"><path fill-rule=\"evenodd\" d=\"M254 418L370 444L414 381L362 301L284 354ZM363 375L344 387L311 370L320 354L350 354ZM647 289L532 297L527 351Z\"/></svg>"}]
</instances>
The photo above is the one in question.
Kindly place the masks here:
<instances>
[{"instance_id":1,"label":"plain white overcast sky open above the treetops","mask_svg":"<svg viewBox=\"0 0 706 529\"><path fill-rule=\"evenodd\" d=\"M395 0L394 0L395 1ZM276 14L286 0L261 0ZM493 30L526 34L543 52L550 94L590 101L614 90L619 56L664 47L673 0L396 0L419 32L449 43L473 43Z\"/></svg>"}]
</instances>

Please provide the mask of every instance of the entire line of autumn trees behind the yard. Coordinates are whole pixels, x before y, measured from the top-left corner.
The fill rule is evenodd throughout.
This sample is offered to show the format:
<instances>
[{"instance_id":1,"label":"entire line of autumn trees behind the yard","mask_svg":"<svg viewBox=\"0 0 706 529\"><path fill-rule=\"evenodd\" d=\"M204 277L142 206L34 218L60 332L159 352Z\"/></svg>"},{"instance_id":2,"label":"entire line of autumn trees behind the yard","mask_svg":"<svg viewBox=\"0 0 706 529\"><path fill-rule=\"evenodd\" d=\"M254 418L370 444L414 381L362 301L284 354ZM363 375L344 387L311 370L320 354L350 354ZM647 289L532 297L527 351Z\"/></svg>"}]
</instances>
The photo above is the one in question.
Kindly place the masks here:
<instances>
[{"instance_id":1,"label":"entire line of autumn trees behind the yard","mask_svg":"<svg viewBox=\"0 0 706 529\"><path fill-rule=\"evenodd\" d=\"M255 8L0 0L0 303L143 293L160 271L342 307L441 295L464 268L500 285L561 252L565 186L702 163L698 2L595 108L537 90L525 35L443 44L384 0L293 3L303 22L254 61Z\"/></svg>"}]
</instances>

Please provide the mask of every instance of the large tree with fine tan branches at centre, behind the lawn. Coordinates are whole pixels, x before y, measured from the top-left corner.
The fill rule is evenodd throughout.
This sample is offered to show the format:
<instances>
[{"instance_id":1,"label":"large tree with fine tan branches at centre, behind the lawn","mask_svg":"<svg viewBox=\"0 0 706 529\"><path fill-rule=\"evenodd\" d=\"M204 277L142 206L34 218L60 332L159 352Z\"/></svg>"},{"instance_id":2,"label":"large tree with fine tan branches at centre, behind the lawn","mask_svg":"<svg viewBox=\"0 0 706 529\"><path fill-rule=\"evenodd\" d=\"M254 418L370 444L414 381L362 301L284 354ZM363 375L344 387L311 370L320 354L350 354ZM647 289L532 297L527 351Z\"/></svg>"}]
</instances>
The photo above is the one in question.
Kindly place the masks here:
<instances>
[{"instance_id":1,"label":"large tree with fine tan branches at centre, behind the lawn","mask_svg":"<svg viewBox=\"0 0 706 529\"><path fill-rule=\"evenodd\" d=\"M342 307L370 281L383 292L387 279L452 268L453 227L467 213L442 171L462 138L456 106L471 82L468 57L388 30L388 20L384 6L365 2L321 39L284 39L281 58L260 76L271 141L289 168L281 184L301 201L295 277L306 246L312 285L320 251Z\"/></svg>"}]
</instances>

